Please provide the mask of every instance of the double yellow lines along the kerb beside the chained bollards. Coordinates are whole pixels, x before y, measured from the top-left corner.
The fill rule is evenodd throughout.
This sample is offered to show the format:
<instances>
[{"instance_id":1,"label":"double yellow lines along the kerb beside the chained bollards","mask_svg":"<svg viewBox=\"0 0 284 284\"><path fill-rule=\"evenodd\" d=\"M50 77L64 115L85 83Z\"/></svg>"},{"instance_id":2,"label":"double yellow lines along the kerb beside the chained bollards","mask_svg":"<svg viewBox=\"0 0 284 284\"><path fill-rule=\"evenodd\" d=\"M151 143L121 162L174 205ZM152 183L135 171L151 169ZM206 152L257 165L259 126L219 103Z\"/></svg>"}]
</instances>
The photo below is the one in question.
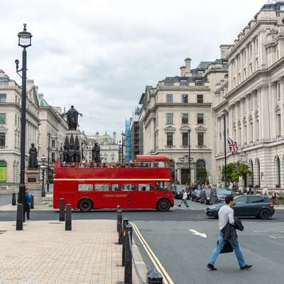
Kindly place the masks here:
<instances>
[{"instance_id":1,"label":"double yellow lines along the kerb beside the chained bollards","mask_svg":"<svg viewBox=\"0 0 284 284\"><path fill-rule=\"evenodd\" d=\"M153 262L153 265L155 268L160 272L160 274L163 275L163 283L165 284L175 284L170 278L170 275L168 275L167 271L165 271L165 268L163 267L162 263L158 260L157 256L155 256L155 253L153 253L152 249L150 246L147 244L145 239L143 238L142 234L138 230L136 224L131 223L133 226L133 229L136 233L136 236L138 237L139 241L141 242L143 248L145 249L146 253L148 254L149 258L151 258L151 261Z\"/></svg>"}]
</instances>

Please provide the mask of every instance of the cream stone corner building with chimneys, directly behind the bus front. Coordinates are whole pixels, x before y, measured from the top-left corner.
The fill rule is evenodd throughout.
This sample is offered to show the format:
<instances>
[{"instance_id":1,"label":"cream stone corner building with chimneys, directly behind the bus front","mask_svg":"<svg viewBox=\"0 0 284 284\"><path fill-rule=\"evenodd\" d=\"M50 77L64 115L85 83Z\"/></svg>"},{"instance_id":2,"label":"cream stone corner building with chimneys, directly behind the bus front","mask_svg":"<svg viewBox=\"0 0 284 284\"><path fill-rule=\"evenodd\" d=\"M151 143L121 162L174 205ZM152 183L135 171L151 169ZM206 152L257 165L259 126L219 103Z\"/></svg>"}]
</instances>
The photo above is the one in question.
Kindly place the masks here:
<instances>
[{"instance_id":1,"label":"cream stone corner building with chimneys, directly behind the bus front","mask_svg":"<svg viewBox=\"0 0 284 284\"><path fill-rule=\"evenodd\" d=\"M168 155L173 178L182 183L189 181L189 130L191 182L197 180L197 168L207 170L203 182L212 175L212 99L205 77L210 63L200 62L191 69L191 59L185 59L180 76L166 77L156 87L147 86L140 99L143 153Z\"/></svg>"}]
</instances>

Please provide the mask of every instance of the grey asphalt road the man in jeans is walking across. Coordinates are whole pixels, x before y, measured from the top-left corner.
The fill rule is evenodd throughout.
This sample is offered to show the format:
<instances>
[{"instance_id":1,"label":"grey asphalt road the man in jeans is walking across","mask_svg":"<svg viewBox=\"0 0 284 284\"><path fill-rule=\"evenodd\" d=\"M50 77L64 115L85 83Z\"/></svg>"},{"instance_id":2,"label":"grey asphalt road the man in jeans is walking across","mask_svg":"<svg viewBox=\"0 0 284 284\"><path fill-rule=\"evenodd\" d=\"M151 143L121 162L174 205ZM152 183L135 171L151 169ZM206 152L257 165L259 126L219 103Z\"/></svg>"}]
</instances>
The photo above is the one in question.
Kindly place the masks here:
<instances>
[{"instance_id":1,"label":"grey asphalt road the man in jeans is walking across","mask_svg":"<svg viewBox=\"0 0 284 284\"><path fill-rule=\"evenodd\" d=\"M246 261L253 264L251 271L240 271L234 253L220 255L218 270L207 271L205 266L219 235L217 220L135 222L174 283L283 283L284 223L253 219L243 219L243 223L239 242ZM151 267L145 253L143 258Z\"/></svg>"}]
</instances>

